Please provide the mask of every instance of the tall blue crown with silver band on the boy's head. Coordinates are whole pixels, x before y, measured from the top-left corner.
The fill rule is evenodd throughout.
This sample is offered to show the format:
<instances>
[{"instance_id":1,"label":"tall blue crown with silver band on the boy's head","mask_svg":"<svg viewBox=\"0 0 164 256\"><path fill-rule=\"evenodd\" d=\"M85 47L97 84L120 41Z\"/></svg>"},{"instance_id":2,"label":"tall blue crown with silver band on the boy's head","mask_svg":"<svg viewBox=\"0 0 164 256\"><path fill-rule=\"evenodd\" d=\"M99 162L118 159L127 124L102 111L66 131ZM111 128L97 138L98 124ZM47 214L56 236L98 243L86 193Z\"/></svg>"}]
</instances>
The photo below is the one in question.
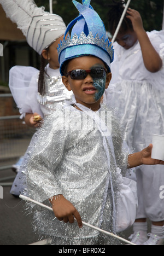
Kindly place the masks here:
<instances>
[{"instance_id":1,"label":"tall blue crown with silver band on the boy's head","mask_svg":"<svg viewBox=\"0 0 164 256\"><path fill-rule=\"evenodd\" d=\"M62 66L65 61L84 55L98 57L106 63L110 70L110 63L114 59L114 50L107 37L103 21L91 7L91 0L82 0L82 4L75 0L72 2L79 10L79 16L68 25L65 37L58 46L61 74L63 75ZM71 28L71 37L67 37Z\"/></svg>"}]
</instances>

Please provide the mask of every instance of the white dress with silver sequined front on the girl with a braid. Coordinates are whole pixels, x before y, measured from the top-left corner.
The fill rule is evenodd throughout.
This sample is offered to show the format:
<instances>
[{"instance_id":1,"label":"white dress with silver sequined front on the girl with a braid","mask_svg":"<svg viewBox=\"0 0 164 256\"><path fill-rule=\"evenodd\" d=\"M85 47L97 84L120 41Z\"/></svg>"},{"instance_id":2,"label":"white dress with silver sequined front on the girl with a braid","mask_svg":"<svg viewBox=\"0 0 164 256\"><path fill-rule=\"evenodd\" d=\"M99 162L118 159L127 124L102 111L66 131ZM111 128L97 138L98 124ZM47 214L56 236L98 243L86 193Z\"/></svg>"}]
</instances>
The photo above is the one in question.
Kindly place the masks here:
<instances>
[{"instance_id":1,"label":"white dress with silver sequined front on the girl with a braid","mask_svg":"<svg viewBox=\"0 0 164 256\"><path fill-rule=\"evenodd\" d=\"M26 113L38 113L45 118L51 110L62 106L65 100L72 99L72 91L68 91L62 83L59 69L52 69L47 65L45 70L45 95L42 97L38 93L38 69L25 66L15 66L10 69L9 87L21 117L25 117ZM34 134L32 140L36 135L37 133ZM24 160L24 158L21 159ZM10 193L19 196L23 189L20 168Z\"/></svg>"}]
</instances>

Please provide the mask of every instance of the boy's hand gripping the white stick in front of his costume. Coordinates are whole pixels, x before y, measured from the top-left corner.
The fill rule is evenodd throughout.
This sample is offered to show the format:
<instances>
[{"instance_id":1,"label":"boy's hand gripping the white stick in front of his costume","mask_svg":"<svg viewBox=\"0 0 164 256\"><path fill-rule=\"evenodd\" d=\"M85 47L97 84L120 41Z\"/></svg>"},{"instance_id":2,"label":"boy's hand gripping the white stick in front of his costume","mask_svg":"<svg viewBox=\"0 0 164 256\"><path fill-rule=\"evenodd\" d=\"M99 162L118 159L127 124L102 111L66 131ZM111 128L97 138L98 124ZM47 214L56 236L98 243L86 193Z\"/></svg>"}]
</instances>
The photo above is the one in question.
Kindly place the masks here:
<instances>
[{"instance_id":1,"label":"boy's hand gripping the white stick in front of his costume","mask_svg":"<svg viewBox=\"0 0 164 256\"><path fill-rule=\"evenodd\" d=\"M74 223L75 218L79 228L82 228L83 224L79 212L63 195L54 196L52 200L50 199L50 202L58 220L65 223Z\"/></svg>"}]
</instances>

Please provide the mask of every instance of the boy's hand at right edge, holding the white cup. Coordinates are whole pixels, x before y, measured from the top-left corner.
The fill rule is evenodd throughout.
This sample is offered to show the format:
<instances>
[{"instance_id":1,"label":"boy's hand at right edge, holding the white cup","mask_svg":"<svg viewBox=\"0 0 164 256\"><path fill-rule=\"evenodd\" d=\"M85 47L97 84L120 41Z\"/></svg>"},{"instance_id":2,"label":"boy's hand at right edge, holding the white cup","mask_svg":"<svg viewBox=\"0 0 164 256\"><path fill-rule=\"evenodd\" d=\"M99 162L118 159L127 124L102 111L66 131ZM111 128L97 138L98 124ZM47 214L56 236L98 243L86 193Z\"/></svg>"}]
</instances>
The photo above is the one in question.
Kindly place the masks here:
<instances>
[{"instance_id":1,"label":"boy's hand at right edge, holding the white cup","mask_svg":"<svg viewBox=\"0 0 164 256\"><path fill-rule=\"evenodd\" d=\"M140 152L140 158L143 165L164 165L164 161L152 159L151 158L151 151L153 148L153 144L150 144L147 148L144 148Z\"/></svg>"}]
</instances>

